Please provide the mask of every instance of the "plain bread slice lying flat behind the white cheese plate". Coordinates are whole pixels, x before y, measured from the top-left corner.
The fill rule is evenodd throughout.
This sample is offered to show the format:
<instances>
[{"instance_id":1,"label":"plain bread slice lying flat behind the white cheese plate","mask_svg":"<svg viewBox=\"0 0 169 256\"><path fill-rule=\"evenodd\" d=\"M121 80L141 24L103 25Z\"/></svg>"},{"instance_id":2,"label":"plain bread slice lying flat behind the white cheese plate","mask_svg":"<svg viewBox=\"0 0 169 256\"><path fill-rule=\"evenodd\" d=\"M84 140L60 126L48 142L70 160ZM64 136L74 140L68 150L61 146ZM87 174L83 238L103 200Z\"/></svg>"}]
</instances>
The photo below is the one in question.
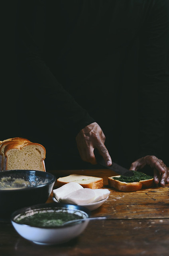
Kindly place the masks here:
<instances>
[{"instance_id":1,"label":"plain bread slice lying flat behind the white cheese plate","mask_svg":"<svg viewBox=\"0 0 169 256\"><path fill-rule=\"evenodd\" d=\"M85 176L80 174L71 174L69 176L61 177L57 179L57 186L61 187L69 182L77 182L83 188L102 188L103 179L93 176Z\"/></svg>"}]
</instances>

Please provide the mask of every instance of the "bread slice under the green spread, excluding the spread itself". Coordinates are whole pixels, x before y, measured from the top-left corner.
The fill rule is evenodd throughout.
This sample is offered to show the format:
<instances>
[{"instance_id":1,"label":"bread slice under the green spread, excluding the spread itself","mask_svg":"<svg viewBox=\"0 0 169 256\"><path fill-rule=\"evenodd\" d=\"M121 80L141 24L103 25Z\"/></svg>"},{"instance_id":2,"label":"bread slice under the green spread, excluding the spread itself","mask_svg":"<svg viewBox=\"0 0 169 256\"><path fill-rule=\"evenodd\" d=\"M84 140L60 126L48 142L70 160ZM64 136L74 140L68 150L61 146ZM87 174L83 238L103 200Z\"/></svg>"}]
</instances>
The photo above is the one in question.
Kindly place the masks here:
<instances>
[{"instance_id":1,"label":"bread slice under the green spread, excluding the spread itself","mask_svg":"<svg viewBox=\"0 0 169 256\"><path fill-rule=\"evenodd\" d=\"M136 171L134 171L134 172L136 172ZM138 173L138 172L136 172L136 173ZM146 175L146 174L144 174L144 175ZM124 177L124 176L118 175L118 176L108 177L109 186L116 188L117 190L124 191L124 192L137 191L137 190L140 190L142 187L150 188L154 184L153 178L150 178L150 176L147 176L147 180L139 180L136 182L124 182L124 181L114 179L115 177L120 178L120 177Z\"/></svg>"}]
</instances>

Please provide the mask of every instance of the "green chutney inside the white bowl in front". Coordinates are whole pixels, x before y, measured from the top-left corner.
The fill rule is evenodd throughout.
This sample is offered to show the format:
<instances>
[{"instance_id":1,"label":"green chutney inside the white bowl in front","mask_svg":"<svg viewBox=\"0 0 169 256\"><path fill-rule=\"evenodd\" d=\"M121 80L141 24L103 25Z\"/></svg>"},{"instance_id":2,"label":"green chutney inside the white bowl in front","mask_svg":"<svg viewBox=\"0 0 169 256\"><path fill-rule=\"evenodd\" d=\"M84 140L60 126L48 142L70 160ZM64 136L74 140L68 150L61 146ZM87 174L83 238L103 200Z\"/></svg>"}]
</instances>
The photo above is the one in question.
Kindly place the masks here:
<instances>
[{"instance_id":1,"label":"green chutney inside the white bowl in front","mask_svg":"<svg viewBox=\"0 0 169 256\"><path fill-rule=\"evenodd\" d=\"M82 216L70 212L37 212L33 215L25 216L22 219L19 218L16 222L29 226L51 228L60 226L69 220L78 220L82 218Z\"/></svg>"}]
</instances>

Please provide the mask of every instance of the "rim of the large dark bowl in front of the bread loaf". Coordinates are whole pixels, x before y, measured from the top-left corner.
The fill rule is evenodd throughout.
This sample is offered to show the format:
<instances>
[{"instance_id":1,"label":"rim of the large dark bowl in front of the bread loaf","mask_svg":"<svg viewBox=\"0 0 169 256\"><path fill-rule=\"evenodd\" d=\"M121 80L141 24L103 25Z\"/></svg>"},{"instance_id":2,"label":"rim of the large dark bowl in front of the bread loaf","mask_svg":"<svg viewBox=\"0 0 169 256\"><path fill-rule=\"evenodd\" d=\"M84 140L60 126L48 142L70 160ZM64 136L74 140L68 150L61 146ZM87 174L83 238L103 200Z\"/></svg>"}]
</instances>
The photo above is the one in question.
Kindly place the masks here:
<instances>
[{"instance_id":1,"label":"rim of the large dark bowl in front of the bread loaf","mask_svg":"<svg viewBox=\"0 0 169 256\"><path fill-rule=\"evenodd\" d=\"M44 186L48 186L48 185L52 184L53 182L55 182L55 180L56 180L56 177L53 174L51 174L49 172L43 172L43 171L37 171L37 170L6 170L6 171L0 171L0 177L3 176L3 175L5 176L5 174L11 173L11 175L12 175L14 173L20 173L20 172L25 172L25 174L28 172L29 174L35 174L35 176L44 176L44 177L45 177L45 174L47 174L47 175L50 176L49 179L51 178L51 180L49 180L45 184L41 184L41 185L33 186L33 187L28 187L28 188L20 188L20 191L22 191L22 190L25 191L25 190L30 190L30 189L32 190L32 189L35 189L35 188L39 188L39 187L41 188L41 187L44 187ZM2 189L2 190L0 190L0 192L3 191L3 193L9 193L9 191L12 192L14 190L16 190L16 188L11 188L10 190Z\"/></svg>"}]
</instances>

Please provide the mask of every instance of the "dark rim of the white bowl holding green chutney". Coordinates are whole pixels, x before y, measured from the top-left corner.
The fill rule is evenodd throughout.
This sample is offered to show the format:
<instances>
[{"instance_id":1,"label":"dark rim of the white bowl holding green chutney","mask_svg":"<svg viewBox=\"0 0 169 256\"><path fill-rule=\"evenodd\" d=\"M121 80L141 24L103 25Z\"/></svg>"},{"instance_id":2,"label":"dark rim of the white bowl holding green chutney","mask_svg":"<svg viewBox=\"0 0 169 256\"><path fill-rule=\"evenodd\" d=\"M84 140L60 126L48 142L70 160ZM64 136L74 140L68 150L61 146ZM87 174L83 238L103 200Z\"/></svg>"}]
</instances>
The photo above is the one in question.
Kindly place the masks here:
<instances>
[{"instance_id":1,"label":"dark rim of the white bowl holding green chutney","mask_svg":"<svg viewBox=\"0 0 169 256\"><path fill-rule=\"evenodd\" d=\"M24 214L26 211L28 210L43 210L45 208L51 208L51 209L61 209L61 208L66 208L68 210L80 210L82 212L85 212L88 217L90 217L91 215L91 212L90 210L88 210L86 207L84 206L79 206L77 204L63 204L63 203L45 203L45 204L35 204L35 205L32 205L32 206L28 206L28 207L24 207L22 209L19 209L19 210L16 210L15 212L12 213L11 215L11 222L15 222L16 224L20 224L22 226L28 226L28 227L34 227L34 228L42 228L42 229L59 229L59 228L66 228L68 226L73 226L73 225L76 225L77 223L79 222L75 222L75 223L72 223L72 224L67 224L65 226L53 226L53 227L47 227L47 226L44 226L44 227L39 227L39 226L35 226L35 225L28 225L28 224L22 224L22 223L18 223L16 222L16 220L14 220L14 218L19 215L19 214Z\"/></svg>"}]
</instances>

